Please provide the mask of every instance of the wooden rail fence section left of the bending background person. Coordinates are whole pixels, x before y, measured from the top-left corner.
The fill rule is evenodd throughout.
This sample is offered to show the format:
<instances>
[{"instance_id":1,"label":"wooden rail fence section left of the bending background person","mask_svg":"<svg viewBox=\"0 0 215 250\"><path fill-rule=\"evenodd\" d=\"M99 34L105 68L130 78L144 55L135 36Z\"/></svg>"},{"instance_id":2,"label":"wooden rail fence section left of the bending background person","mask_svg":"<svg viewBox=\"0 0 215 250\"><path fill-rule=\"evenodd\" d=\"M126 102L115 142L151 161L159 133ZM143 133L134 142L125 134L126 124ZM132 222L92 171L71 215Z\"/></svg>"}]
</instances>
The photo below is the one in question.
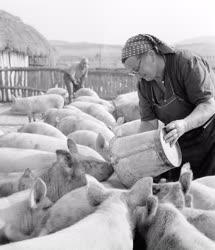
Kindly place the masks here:
<instances>
[{"instance_id":1,"label":"wooden rail fence section left of the bending background person","mask_svg":"<svg viewBox=\"0 0 215 250\"><path fill-rule=\"evenodd\" d=\"M0 102L11 101L12 95L38 95L54 86L67 88L71 98L70 82L73 82L70 74L59 68L13 67L0 69Z\"/></svg>"}]
</instances>

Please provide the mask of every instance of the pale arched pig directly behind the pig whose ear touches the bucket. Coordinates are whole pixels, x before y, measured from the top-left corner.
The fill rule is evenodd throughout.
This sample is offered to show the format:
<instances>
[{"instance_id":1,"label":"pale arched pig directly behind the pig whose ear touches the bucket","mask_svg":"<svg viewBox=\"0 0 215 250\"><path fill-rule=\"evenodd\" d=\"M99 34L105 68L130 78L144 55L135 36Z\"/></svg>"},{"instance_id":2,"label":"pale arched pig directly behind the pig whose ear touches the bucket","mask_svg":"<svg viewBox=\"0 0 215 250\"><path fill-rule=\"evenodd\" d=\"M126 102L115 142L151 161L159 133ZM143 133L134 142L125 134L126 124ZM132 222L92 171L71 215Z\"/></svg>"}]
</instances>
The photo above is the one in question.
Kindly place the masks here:
<instances>
[{"instance_id":1,"label":"pale arched pig directly behind the pig whose ear touches the bucket","mask_svg":"<svg viewBox=\"0 0 215 250\"><path fill-rule=\"evenodd\" d=\"M65 135L76 130L91 130L96 133L101 133L107 142L114 137L114 133L106 126L102 126L97 122L86 120L81 117L77 118L73 115L63 118L58 124L58 129Z\"/></svg>"}]
</instances>

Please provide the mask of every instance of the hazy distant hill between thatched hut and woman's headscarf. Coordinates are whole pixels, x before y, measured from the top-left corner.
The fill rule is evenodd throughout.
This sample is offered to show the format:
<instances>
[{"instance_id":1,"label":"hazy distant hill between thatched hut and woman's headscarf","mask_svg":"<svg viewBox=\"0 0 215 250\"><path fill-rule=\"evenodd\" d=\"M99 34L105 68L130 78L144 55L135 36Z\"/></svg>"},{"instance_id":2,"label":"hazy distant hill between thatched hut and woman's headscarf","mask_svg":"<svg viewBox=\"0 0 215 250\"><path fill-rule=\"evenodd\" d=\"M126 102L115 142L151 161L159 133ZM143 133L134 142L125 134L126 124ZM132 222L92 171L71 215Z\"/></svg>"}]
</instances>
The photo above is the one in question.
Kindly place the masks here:
<instances>
[{"instance_id":1,"label":"hazy distant hill between thatched hut and woman's headscarf","mask_svg":"<svg viewBox=\"0 0 215 250\"><path fill-rule=\"evenodd\" d=\"M95 43L71 43L65 41L49 41L57 51L57 65L60 67L74 66L82 57L87 57L90 67L122 68L120 61L121 45Z\"/></svg>"}]
</instances>

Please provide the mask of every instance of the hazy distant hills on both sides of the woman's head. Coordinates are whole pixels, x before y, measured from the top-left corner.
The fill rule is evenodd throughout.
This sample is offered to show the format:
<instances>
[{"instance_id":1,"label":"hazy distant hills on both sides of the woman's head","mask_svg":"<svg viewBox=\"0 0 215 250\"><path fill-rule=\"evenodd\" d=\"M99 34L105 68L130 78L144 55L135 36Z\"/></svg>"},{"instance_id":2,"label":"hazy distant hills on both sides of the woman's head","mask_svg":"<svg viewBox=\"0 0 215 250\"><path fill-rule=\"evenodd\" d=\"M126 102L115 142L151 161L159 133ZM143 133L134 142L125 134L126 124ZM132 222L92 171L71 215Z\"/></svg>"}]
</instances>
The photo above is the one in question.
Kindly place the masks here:
<instances>
[{"instance_id":1,"label":"hazy distant hills on both sides of the woman's head","mask_svg":"<svg viewBox=\"0 0 215 250\"><path fill-rule=\"evenodd\" d=\"M82 57L87 57L91 68L123 68L121 63L122 45L72 43L51 40L57 51L57 66L75 67ZM204 56L215 67L215 37L196 37L179 41L176 48L188 49Z\"/></svg>"}]
</instances>

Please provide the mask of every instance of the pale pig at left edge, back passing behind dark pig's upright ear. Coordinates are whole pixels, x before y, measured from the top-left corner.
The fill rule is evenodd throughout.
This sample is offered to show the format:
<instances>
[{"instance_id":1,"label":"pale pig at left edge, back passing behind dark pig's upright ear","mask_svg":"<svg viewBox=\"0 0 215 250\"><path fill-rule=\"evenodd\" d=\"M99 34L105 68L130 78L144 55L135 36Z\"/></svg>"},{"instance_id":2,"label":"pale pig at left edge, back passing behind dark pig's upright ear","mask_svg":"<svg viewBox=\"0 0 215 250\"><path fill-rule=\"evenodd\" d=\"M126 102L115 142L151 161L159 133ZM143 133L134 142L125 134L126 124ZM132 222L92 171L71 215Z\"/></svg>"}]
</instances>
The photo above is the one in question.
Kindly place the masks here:
<instances>
[{"instance_id":1,"label":"pale pig at left edge, back passing behind dark pig's upright ear","mask_svg":"<svg viewBox=\"0 0 215 250\"><path fill-rule=\"evenodd\" d=\"M1 147L37 149L47 152L55 152L57 149L68 149L66 140L47 135L17 132L0 136L0 148ZM95 150L83 145L78 145L78 148L80 154L92 156L95 159L104 161L104 158Z\"/></svg>"}]
</instances>

